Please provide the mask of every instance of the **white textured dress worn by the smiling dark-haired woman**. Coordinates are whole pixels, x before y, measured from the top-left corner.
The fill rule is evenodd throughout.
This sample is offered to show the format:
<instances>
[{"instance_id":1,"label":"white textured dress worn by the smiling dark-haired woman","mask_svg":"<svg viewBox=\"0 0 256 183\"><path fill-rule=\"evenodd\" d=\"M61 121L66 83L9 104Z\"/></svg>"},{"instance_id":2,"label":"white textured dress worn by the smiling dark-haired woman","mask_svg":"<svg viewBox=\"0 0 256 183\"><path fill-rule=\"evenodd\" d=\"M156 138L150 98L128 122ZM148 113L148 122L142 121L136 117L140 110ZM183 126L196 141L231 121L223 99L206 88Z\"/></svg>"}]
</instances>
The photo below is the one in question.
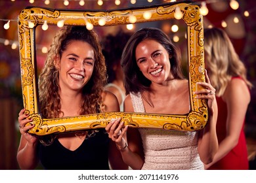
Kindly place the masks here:
<instances>
[{"instance_id":1,"label":"white textured dress worn by the smiling dark-haired woman","mask_svg":"<svg viewBox=\"0 0 256 183\"><path fill-rule=\"evenodd\" d=\"M140 93L130 93L135 112L146 112ZM203 169L198 154L198 132L139 129L145 155L142 169Z\"/></svg>"}]
</instances>

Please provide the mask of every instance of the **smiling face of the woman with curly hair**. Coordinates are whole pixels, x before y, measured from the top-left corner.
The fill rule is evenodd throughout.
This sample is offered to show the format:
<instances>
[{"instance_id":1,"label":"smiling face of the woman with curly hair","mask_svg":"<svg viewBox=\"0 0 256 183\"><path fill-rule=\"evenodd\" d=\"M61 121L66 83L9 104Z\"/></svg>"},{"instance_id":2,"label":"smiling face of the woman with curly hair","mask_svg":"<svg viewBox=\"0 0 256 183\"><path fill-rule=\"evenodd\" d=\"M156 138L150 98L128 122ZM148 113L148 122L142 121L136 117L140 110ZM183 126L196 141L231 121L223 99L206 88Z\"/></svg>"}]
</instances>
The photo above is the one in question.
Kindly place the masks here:
<instances>
[{"instance_id":1,"label":"smiling face of the woman with curly hair","mask_svg":"<svg viewBox=\"0 0 256 183\"><path fill-rule=\"evenodd\" d=\"M93 75L95 54L93 47L83 41L70 41L56 67L62 91L81 91Z\"/></svg>"}]
</instances>

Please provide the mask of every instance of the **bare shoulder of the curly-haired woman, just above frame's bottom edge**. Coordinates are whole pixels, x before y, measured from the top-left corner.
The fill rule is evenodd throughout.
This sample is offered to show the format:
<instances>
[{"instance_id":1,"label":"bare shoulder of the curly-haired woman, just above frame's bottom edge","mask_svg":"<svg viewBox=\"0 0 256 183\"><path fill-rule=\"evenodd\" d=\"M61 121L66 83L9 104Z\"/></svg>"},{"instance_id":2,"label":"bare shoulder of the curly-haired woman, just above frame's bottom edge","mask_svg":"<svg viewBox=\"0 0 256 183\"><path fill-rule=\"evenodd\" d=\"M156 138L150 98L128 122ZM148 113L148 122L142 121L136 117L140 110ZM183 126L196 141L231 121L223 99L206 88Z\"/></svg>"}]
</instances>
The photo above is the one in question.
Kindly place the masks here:
<instances>
[{"instance_id":1,"label":"bare shoulder of the curly-haired woman, just above frame's bottom edge","mask_svg":"<svg viewBox=\"0 0 256 183\"><path fill-rule=\"evenodd\" d=\"M106 112L119 111L119 103L116 95L114 95L112 92L103 91L101 96Z\"/></svg>"}]
</instances>

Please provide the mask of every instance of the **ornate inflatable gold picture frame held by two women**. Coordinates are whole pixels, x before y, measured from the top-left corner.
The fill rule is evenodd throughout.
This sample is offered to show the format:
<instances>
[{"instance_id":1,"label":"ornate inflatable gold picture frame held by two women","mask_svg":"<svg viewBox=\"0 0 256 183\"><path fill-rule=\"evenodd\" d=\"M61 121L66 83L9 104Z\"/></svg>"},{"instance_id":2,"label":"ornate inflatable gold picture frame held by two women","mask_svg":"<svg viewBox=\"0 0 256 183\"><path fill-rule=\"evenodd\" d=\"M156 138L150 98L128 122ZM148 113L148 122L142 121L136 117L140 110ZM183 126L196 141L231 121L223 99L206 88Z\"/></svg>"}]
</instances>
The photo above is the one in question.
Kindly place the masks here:
<instances>
[{"instance_id":1,"label":"ornate inflatable gold picture frame held by two women","mask_svg":"<svg viewBox=\"0 0 256 183\"><path fill-rule=\"evenodd\" d=\"M175 18L175 12L181 10L182 19L187 25L188 42L188 80L190 89L190 112L186 115L149 114L133 112L105 112L84 116L44 119L39 110L37 89L37 67L35 56L35 27L45 21L49 25L57 25L65 20L64 25L87 25L88 22L99 26L99 20L104 19L104 26L132 24L130 17L136 17L136 23ZM144 12L150 12L151 18L146 20ZM31 27L30 24L34 26ZM116 10L64 10L41 7L24 8L18 16L18 36L20 46L20 68L22 79L23 103L28 118L33 118L35 127L29 131L35 135L49 135L81 129L96 129L106 127L112 118L121 117L125 125L132 127L152 127L175 129L179 131L196 131L207 123L207 105L205 100L196 99L192 92L199 90L196 82L203 82L203 16L200 7L190 2L165 3L149 7L133 7Z\"/></svg>"}]
</instances>

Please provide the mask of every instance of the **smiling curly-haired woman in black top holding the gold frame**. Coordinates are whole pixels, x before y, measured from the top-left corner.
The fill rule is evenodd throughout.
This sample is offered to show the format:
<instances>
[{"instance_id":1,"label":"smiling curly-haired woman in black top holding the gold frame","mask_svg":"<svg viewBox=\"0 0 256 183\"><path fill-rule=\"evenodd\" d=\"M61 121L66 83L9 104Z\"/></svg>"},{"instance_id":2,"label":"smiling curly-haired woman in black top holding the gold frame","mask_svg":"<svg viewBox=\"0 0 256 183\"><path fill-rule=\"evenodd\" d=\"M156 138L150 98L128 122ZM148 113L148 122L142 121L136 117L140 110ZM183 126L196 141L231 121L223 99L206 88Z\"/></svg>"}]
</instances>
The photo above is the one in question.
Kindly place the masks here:
<instances>
[{"instance_id":1,"label":"smiling curly-haired woman in black top holding the gold frame","mask_svg":"<svg viewBox=\"0 0 256 183\"><path fill-rule=\"evenodd\" d=\"M39 76L39 102L43 118L60 118L119 111L110 92L104 92L106 65L98 36L82 26L65 26L53 39L45 67ZM20 169L123 169L112 161L119 152L105 129L75 131L39 138L27 131L32 119L20 111ZM115 156L115 154L117 155ZM117 162L116 165L114 162Z\"/></svg>"}]
</instances>

